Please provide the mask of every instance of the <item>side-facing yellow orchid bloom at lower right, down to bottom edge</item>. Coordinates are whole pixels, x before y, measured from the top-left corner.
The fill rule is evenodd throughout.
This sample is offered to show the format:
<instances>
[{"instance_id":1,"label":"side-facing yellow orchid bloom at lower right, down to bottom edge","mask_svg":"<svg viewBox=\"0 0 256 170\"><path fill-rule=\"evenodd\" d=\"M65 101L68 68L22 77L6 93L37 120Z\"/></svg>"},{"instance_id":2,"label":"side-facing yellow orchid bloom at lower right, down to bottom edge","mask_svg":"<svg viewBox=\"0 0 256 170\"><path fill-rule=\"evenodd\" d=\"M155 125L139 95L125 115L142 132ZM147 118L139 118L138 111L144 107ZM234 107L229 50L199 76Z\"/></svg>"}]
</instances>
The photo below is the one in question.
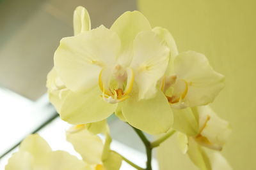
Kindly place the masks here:
<instances>
[{"instance_id":1,"label":"side-facing yellow orchid bloom at lower right, down to bottom edge","mask_svg":"<svg viewBox=\"0 0 256 170\"><path fill-rule=\"evenodd\" d=\"M180 122L183 121L182 125L178 125L179 121L173 124L173 127L180 131L178 139L182 152L188 153L189 158L200 169L231 169L225 158L216 152L222 149L230 135L228 122L218 117L209 106L186 108L182 111L183 115L177 113ZM191 127L195 131L191 131ZM205 153L202 146L211 150Z\"/></svg>"}]
</instances>

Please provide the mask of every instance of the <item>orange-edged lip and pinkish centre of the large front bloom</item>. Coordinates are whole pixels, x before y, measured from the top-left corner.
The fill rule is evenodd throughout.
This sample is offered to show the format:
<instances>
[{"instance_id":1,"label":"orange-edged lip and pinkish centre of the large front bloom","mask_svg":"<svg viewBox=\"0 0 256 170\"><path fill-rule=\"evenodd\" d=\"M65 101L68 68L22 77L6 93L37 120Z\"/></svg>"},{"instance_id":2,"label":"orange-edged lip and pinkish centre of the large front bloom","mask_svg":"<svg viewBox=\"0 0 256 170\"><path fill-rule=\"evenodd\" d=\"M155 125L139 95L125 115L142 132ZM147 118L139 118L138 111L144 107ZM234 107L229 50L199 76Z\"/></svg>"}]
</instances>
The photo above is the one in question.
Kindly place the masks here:
<instances>
[{"instance_id":1,"label":"orange-edged lip and pinkish centre of the large front bloom","mask_svg":"<svg viewBox=\"0 0 256 170\"><path fill-rule=\"evenodd\" d=\"M104 69L99 74L99 87L102 98L108 103L118 103L129 97L134 83L134 73L131 68L126 70L117 65L109 76L103 75Z\"/></svg>"}]
</instances>

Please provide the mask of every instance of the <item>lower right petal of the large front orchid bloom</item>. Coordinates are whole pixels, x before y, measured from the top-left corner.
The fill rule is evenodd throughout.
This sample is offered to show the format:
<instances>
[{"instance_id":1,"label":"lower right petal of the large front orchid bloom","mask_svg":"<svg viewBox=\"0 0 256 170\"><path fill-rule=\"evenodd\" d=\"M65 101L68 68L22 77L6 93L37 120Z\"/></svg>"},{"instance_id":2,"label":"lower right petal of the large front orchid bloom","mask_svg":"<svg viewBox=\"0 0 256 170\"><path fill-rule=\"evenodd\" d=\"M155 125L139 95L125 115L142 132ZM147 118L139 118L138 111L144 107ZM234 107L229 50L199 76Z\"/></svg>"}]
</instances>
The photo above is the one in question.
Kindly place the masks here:
<instances>
[{"instance_id":1,"label":"lower right petal of the large front orchid bloom","mask_svg":"<svg viewBox=\"0 0 256 170\"><path fill-rule=\"evenodd\" d=\"M125 120L148 134L167 132L173 124L173 115L164 94L157 91L154 98L140 101L135 95L124 101L122 113Z\"/></svg>"}]
</instances>

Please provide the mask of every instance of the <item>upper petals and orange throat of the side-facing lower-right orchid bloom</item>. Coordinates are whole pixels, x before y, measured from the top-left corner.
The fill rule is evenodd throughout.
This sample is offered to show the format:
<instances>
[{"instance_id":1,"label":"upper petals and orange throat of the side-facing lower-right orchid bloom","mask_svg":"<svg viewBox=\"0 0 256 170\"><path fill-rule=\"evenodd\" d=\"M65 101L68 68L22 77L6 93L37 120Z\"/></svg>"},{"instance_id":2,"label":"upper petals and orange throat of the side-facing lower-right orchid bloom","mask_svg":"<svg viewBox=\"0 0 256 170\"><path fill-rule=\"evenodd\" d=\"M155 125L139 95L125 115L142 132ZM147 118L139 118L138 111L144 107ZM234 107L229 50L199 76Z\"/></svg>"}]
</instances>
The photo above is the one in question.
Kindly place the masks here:
<instances>
[{"instance_id":1,"label":"upper petals and orange throat of the side-facing lower-right orchid bloom","mask_svg":"<svg viewBox=\"0 0 256 170\"><path fill-rule=\"evenodd\" d=\"M221 150L230 136L230 125L212 111L210 106L199 106L174 111L173 128L187 136L191 136L197 143L213 150ZM193 130L191 130L193 129Z\"/></svg>"}]
</instances>

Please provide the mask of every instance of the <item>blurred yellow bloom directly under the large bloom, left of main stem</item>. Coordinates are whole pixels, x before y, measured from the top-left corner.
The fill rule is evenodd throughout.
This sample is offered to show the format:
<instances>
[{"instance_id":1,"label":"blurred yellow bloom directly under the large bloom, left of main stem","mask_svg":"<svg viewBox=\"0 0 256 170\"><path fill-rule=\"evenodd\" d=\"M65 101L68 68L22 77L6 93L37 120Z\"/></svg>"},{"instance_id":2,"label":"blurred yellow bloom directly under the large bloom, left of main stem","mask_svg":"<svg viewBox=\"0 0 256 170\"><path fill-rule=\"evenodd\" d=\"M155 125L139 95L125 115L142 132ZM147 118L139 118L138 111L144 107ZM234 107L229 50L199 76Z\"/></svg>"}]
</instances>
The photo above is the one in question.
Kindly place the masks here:
<instances>
[{"instance_id":1,"label":"blurred yellow bloom directly under the large bloom, left of main stem","mask_svg":"<svg viewBox=\"0 0 256 170\"><path fill-rule=\"evenodd\" d=\"M116 152L112 152L109 146L104 146L102 139L92 129L98 129L98 133L108 133L106 121L90 125L76 125L67 131L67 140L72 143L77 153L81 155L84 162L88 163L93 170L120 169L122 157ZM110 143L105 143L105 145L110 145ZM106 154L104 159L103 152Z\"/></svg>"}]
</instances>

